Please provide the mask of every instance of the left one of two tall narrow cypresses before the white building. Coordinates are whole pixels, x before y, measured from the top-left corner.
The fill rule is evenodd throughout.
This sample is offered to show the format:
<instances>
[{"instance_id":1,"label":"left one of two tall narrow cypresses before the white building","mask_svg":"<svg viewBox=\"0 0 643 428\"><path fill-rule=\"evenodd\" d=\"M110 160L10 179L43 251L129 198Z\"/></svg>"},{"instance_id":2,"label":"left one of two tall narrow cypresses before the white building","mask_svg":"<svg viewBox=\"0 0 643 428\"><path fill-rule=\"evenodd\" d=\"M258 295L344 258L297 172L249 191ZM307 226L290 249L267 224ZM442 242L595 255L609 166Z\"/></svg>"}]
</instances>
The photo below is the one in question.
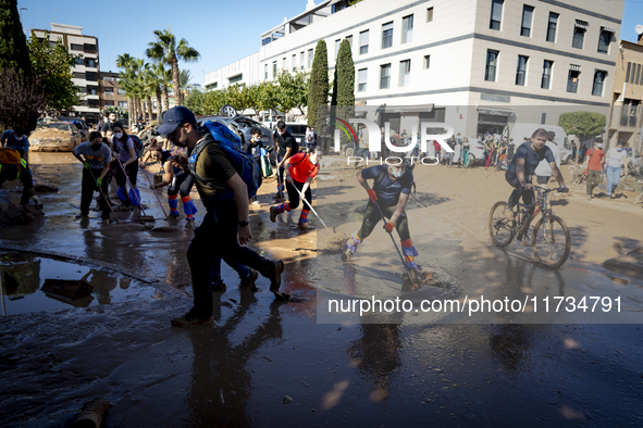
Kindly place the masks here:
<instances>
[{"instance_id":1,"label":"left one of two tall narrow cypresses before the white building","mask_svg":"<svg viewBox=\"0 0 643 428\"><path fill-rule=\"evenodd\" d=\"M329 53L326 42L321 39L314 48L314 59L310 72L308 86L308 124L318 129L320 136L326 131L326 115L329 105ZM321 147L324 152L327 141L321 137Z\"/></svg>"}]
</instances>

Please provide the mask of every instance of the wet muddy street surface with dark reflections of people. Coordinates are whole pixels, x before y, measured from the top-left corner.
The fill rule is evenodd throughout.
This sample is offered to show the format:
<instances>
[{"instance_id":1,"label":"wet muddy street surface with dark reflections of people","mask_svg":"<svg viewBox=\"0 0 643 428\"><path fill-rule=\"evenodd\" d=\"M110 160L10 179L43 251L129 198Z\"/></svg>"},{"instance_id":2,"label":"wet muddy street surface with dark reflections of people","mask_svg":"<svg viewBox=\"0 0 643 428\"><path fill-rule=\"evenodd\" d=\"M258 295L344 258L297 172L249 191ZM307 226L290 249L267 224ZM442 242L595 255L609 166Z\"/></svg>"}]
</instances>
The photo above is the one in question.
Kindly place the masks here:
<instances>
[{"instance_id":1,"label":"wet muddy street surface with dark reflections of people","mask_svg":"<svg viewBox=\"0 0 643 428\"><path fill-rule=\"evenodd\" d=\"M215 325L177 329L169 320L190 307L191 293L185 252L193 231L185 221L150 229L126 212L120 213L122 225L104 226L95 211L79 221L82 165L70 154L37 158L36 177L60 191L42 198L46 218L0 230L2 272L13 273L22 287L4 292L24 295L5 295L16 315L0 319L0 426L65 426L92 399L113 405L108 427L642 424L638 324L566 316L525 325L461 314L318 323L319 301L333 295L522 300L590 292L621 295L632 322L643 309L638 274L573 259L545 269L520 247L490 247L484 225L461 224L438 210L454 197L436 190L419 192L432 205L412 205L408 213L411 224L426 225L412 229L413 242L418 260L442 286L403 293L382 230L343 264L332 246L318 246L321 230L296 232L290 224L298 211L270 223L270 197L262 194L263 206L251 211L252 247L286 262L284 289L297 301L275 302L264 278L259 292L240 291L236 274L223 265L227 291L214 293ZM355 172L329 174L335 177L318 184L318 211L334 235L348 235L359 227L366 197L350 190ZM148 214L164 226L145 177L138 179ZM272 181L264 186L264 192L273 190ZM0 193L20 197L7 188ZM44 306L48 298L38 287L58 276L87 276L96 281L95 299L87 307L59 301ZM626 319L606 314L611 319L601 323Z\"/></svg>"}]
</instances>

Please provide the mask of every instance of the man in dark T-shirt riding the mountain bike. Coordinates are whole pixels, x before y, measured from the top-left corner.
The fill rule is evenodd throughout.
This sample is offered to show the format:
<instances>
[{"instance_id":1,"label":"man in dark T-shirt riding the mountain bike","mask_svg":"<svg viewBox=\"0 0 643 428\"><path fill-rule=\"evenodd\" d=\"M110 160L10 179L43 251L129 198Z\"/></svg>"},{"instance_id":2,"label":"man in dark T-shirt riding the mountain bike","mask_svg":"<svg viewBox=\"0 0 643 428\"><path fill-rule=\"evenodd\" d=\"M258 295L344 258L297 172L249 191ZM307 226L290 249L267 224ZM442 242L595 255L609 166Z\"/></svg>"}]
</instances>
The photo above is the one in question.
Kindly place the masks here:
<instances>
[{"instance_id":1,"label":"man in dark T-shirt riding the mountain bike","mask_svg":"<svg viewBox=\"0 0 643 428\"><path fill-rule=\"evenodd\" d=\"M505 173L505 179L511 187L514 187L514 191L511 196L509 196L509 200L507 201L509 210L506 212L506 217L508 221L516 219L516 213L514 212L514 207L518 205L520 198L522 197L522 202L529 207L530 214L533 213L535 205L534 205L534 193L533 193L533 185L531 184L531 178L535 172L536 166L542 160L546 160L552 168L552 174L558 185L560 186L559 191L567 192L569 189L565 186L565 179L562 178L562 174L560 169L558 169L558 165L556 165L556 159L554 158L554 153L552 150L545 146L547 142L547 131L543 128L536 129L532 136L530 141L525 141L516 151L516 155L511 160L509 164L509 168L507 173ZM524 230L529 230L529 225L524 228ZM523 246L531 246L531 243L527 242L527 232L522 236L517 237L518 240L522 241Z\"/></svg>"}]
</instances>

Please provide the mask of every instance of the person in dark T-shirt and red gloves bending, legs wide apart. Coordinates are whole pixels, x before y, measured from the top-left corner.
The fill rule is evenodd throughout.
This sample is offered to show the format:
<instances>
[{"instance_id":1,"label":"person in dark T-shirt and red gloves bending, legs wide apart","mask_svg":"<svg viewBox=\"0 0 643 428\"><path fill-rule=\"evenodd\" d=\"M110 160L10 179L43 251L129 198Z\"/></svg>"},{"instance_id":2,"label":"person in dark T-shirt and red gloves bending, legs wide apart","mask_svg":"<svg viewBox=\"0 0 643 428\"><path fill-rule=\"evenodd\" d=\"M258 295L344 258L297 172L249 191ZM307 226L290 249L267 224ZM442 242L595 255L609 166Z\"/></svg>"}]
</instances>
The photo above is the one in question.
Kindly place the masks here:
<instances>
[{"instance_id":1,"label":"person in dark T-shirt and red gloves bending, legs wide apart","mask_svg":"<svg viewBox=\"0 0 643 428\"><path fill-rule=\"evenodd\" d=\"M374 180L372 189L367 181L369 179ZM406 163L396 166L371 166L357 173L357 181L369 194L369 202L361 222L361 228L346 241L342 259L345 262L350 260L357 247L371 235L383 215L387 219L384 224L384 230L388 234L392 234L394 228L397 230L410 279L415 284L419 282L421 275L415 260L418 251L411 241L409 222L404 211L413 185L413 174L410 167L407 167Z\"/></svg>"}]
</instances>

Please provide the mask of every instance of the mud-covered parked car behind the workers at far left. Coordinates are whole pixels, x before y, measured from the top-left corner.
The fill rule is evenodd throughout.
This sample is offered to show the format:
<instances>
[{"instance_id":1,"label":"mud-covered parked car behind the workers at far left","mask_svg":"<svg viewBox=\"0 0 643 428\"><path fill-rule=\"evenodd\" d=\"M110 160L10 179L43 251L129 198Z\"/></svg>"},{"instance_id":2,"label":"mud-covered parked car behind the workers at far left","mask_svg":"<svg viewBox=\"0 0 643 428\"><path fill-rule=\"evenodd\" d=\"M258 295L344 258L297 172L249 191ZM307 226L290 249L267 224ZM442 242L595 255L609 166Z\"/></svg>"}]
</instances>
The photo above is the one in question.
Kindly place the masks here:
<instances>
[{"instance_id":1,"label":"mud-covered parked car behind the workers at far left","mask_svg":"<svg viewBox=\"0 0 643 428\"><path fill-rule=\"evenodd\" d=\"M42 122L29 135L29 150L71 152L84 140L84 134L70 122Z\"/></svg>"}]
</instances>

